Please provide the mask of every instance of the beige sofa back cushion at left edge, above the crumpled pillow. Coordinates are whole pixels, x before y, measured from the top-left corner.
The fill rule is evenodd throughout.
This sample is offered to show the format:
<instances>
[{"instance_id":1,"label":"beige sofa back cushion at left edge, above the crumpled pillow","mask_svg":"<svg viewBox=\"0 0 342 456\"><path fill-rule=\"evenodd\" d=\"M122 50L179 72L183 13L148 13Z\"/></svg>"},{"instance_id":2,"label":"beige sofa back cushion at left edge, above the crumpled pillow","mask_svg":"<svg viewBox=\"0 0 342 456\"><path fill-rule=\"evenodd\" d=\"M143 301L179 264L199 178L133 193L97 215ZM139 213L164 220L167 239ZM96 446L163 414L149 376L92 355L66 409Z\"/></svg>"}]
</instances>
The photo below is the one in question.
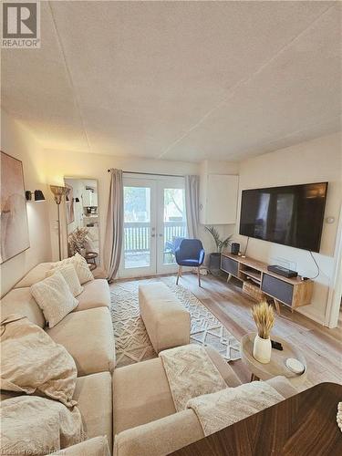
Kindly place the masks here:
<instances>
[{"instance_id":1,"label":"beige sofa back cushion at left edge, above the crumpled pillow","mask_svg":"<svg viewBox=\"0 0 342 456\"><path fill-rule=\"evenodd\" d=\"M0 313L2 318L11 314L27 316L32 323L40 327L44 327L46 323L43 312L36 304L29 287L15 288L8 292L1 299Z\"/></svg>"}]
</instances>

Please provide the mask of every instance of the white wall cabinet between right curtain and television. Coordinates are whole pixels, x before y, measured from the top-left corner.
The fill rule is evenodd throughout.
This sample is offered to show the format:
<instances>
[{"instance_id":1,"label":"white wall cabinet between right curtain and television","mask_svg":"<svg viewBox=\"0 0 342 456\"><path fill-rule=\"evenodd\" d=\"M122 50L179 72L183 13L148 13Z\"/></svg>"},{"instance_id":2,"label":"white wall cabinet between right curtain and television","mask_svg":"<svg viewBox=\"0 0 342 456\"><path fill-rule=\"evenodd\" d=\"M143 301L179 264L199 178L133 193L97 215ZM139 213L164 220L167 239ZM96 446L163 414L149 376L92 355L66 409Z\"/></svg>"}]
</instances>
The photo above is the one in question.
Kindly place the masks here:
<instances>
[{"instance_id":1,"label":"white wall cabinet between right curtain and television","mask_svg":"<svg viewBox=\"0 0 342 456\"><path fill-rule=\"evenodd\" d=\"M239 177L227 174L201 175L200 223L236 223Z\"/></svg>"}]
</instances>

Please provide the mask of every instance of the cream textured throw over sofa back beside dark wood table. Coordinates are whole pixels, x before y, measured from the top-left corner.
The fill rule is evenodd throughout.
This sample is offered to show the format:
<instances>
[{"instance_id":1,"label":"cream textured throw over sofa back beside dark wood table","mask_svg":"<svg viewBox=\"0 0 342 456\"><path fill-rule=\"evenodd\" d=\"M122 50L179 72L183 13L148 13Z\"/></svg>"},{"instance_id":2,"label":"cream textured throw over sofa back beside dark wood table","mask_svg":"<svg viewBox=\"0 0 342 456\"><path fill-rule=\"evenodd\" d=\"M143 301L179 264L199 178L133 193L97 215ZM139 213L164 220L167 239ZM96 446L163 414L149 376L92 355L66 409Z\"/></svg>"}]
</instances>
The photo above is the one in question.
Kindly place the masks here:
<instances>
[{"instance_id":1,"label":"cream textured throw over sofa back beside dark wood table","mask_svg":"<svg viewBox=\"0 0 342 456\"><path fill-rule=\"evenodd\" d=\"M204 435L208 436L281 400L283 396L271 385L254 381L191 399L187 408L196 413Z\"/></svg>"}]
</instances>

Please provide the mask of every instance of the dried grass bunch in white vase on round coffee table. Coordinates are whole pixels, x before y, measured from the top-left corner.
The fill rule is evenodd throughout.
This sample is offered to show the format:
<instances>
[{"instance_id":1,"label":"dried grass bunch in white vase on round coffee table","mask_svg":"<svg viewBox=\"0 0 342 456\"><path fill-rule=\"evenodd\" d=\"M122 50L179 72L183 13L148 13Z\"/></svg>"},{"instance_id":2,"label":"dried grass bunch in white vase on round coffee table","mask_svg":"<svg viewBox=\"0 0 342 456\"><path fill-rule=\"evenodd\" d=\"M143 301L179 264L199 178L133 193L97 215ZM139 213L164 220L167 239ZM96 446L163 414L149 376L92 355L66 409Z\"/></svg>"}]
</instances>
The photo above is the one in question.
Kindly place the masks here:
<instances>
[{"instance_id":1,"label":"dried grass bunch in white vase on round coffee table","mask_svg":"<svg viewBox=\"0 0 342 456\"><path fill-rule=\"evenodd\" d=\"M257 327L257 335L254 338L253 356L260 363L267 364L271 360L271 329L275 325L275 312L267 301L255 304L252 316Z\"/></svg>"}]
</instances>

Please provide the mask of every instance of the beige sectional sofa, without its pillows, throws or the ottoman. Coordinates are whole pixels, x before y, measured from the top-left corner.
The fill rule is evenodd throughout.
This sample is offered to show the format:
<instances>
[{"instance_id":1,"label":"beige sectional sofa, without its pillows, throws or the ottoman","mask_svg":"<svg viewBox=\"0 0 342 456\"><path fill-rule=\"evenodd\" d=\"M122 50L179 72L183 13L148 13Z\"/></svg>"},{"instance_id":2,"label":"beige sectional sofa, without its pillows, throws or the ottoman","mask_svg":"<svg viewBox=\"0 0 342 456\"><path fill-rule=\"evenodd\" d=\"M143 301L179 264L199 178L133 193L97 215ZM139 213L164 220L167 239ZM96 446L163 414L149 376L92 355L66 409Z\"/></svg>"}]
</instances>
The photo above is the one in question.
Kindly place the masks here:
<instances>
[{"instance_id":1,"label":"beige sectional sofa, without its pillows, throws or the ottoman","mask_svg":"<svg viewBox=\"0 0 342 456\"><path fill-rule=\"evenodd\" d=\"M38 264L5 295L0 306L2 317L18 313L45 327L43 313L29 287L44 279L51 265ZM88 438L107 436L115 456L160 456L202 439L202 428L192 409L176 413L161 358L114 370L109 285L95 279L83 286L75 311L57 326L45 329L76 361L74 399L78 400ZM240 380L221 355L210 347L206 349L227 386L239 386ZM268 382L284 398L296 392L285 378ZM6 399L13 394L3 392L1 396Z\"/></svg>"}]
</instances>

